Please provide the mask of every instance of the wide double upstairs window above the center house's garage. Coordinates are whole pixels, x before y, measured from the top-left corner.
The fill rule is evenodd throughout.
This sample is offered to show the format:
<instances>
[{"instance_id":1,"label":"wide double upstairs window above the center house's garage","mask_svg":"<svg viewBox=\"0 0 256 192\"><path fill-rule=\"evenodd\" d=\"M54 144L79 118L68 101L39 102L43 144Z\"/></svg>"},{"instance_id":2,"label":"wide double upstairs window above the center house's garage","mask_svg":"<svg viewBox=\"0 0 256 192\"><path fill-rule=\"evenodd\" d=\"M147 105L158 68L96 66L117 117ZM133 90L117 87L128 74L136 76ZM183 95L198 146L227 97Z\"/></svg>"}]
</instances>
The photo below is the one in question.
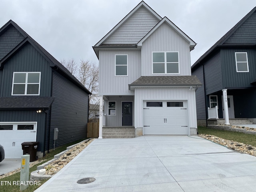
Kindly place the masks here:
<instances>
[{"instance_id":1,"label":"wide double upstairs window above the center house's garage","mask_svg":"<svg viewBox=\"0 0 256 192\"><path fill-rule=\"evenodd\" d=\"M153 74L179 74L179 52L152 52Z\"/></svg>"}]
</instances>

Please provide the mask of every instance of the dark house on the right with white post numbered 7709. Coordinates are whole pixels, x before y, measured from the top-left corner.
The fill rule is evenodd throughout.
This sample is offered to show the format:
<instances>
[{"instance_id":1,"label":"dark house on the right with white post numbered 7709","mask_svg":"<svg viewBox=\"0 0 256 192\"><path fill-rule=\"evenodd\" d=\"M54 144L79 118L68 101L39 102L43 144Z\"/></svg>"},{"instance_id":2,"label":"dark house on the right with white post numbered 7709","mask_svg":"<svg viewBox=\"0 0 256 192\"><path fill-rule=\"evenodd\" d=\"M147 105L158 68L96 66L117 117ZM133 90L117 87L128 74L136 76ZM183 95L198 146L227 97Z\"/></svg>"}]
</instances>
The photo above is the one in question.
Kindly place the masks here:
<instances>
[{"instance_id":1,"label":"dark house on the right with white post numbered 7709","mask_svg":"<svg viewBox=\"0 0 256 192\"><path fill-rule=\"evenodd\" d=\"M196 92L198 125L206 125L206 119L216 115L225 124L237 118L256 123L255 64L256 8L192 66L192 75L203 83Z\"/></svg>"}]
</instances>

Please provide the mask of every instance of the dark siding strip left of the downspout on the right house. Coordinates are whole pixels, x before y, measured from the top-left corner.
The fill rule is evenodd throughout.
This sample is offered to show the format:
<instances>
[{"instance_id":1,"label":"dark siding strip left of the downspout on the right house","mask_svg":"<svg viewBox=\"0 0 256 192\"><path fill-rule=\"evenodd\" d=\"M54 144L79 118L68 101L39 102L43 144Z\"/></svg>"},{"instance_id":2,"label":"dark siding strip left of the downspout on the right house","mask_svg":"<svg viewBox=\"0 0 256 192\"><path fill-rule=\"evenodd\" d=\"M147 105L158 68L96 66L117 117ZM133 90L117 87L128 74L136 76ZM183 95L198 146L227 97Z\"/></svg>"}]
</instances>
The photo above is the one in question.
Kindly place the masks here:
<instances>
[{"instance_id":1,"label":"dark siding strip left of the downspout on the right house","mask_svg":"<svg viewBox=\"0 0 256 192\"><path fill-rule=\"evenodd\" d=\"M196 116L199 120L206 119L203 66L201 65L193 71L192 75L197 76L203 84L196 90Z\"/></svg>"}]
</instances>

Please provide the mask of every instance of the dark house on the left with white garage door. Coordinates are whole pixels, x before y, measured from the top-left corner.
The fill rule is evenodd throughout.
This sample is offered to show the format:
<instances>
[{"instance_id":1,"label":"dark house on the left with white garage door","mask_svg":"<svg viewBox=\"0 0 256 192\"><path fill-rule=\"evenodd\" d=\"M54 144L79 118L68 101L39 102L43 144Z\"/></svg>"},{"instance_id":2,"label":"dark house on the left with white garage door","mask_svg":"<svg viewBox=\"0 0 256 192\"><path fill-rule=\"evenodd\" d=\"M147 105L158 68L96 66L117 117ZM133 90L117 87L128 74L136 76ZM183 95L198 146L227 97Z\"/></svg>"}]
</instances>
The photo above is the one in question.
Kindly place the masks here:
<instances>
[{"instance_id":1,"label":"dark house on the left with white garage door","mask_svg":"<svg viewBox=\"0 0 256 192\"><path fill-rule=\"evenodd\" d=\"M38 156L85 138L91 93L52 55L10 20L0 28L0 141L6 158L22 142L39 142Z\"/></svg>"}]
</instances>

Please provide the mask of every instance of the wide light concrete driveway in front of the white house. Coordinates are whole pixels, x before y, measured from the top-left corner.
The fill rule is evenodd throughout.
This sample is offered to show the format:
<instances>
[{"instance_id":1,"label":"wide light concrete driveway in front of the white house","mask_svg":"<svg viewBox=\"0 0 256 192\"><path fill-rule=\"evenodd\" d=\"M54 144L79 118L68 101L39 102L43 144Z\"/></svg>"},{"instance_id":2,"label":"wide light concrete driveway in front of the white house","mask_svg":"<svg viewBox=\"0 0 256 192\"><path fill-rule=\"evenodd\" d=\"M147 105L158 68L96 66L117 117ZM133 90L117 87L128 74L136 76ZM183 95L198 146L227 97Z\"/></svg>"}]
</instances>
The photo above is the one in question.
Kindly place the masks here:
<instances>
[{"instance_id":1,"label":"wide light concrete driveway in front of the white house","mask_svg":"<svg viewBox=\"0 0 256 192\"><path fill-rule=\"evenodd\" d=\"M36 192L251 192L255 181L254 156L198 136L141 136L94 140Z\"/></svg>"}]
</instances>

